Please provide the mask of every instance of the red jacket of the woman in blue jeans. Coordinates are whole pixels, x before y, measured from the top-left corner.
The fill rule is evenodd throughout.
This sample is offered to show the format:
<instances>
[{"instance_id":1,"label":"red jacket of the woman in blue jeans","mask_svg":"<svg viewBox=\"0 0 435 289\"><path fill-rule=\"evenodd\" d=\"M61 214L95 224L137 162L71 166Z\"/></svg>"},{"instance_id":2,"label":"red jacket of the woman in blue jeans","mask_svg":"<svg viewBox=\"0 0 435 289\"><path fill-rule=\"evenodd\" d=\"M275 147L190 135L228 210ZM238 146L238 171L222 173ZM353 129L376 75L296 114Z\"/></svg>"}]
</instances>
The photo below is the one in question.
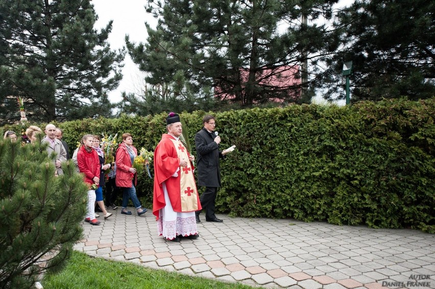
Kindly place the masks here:
<instances>
[{"instance_id":1,"label":"red jacket of the woman in blue jeans","mask_svg":"<svg viewBox=\"0 0 435 289\"><path fill-rule=\"evenodd\" d=\"M133 147L137 155L137 149ZM116 187L131 188L132 173L129 169L132 167L130 154L127 151L124 143L120 144L116 150ZM134 185L137 185L137 177L134 174Z\"/></svg>"}]
</instances>

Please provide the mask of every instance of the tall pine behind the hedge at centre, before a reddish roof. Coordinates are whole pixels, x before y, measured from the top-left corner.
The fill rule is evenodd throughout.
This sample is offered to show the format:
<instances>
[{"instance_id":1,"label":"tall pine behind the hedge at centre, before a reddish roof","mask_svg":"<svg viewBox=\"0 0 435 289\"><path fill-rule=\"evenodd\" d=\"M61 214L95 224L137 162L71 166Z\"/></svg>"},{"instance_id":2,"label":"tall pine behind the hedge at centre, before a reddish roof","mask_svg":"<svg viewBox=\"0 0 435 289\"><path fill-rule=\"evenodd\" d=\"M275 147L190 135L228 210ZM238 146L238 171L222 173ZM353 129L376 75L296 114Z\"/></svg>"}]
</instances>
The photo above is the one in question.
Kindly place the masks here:
<instances>
[{"instance_id":1,"label":"tall pine behind the hedge at centre, before a reddish roof","mask_svg":"<svg viewBox=\"0 0 435 289\"><path fill-rule=\"evenodd\" d=\"M232 100L243 106L271 97L294 102L301 88L319 82L316 64L337 44L326 27L312 24L321 16L332 16L334 0L148 2L148 12L160 17L157 28L147 25L146 44L126 37L127 48L139 68L149 73L147 83L174 85L175 96L183 90L211 94L219 87L222 97L234 95ZM311 24L301 24L302 15ZM287 25L283 32L280 23ZM264 82L271 76L280 78L283 67L300 78L295 68L308 60L313 67L309 82L282 86Z\"/></svg>"}]
</instances>

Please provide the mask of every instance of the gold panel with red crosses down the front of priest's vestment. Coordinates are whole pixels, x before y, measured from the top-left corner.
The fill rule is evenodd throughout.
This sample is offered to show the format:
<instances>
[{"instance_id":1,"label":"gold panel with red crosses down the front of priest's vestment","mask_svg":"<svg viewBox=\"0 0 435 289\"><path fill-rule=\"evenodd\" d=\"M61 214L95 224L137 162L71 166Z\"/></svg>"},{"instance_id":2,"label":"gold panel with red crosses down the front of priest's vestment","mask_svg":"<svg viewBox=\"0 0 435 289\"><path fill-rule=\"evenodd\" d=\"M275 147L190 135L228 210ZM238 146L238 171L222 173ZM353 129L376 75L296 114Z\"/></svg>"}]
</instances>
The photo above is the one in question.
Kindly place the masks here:
<instances>
[{"instance_id":1,"label":"gold panel with red crosses down the front of priest's vestment","mask_svg":"<svg viewBox=\"0 0 435 289\"><path fill-rule=\"evenodd\" d=\"M195 176L192 166L187 155L187 149L178 140L171 141L177 149L179 159L187 161L187 167L180 167L178 174L180 175L180 196L181 196L181 211L192 212L198 210L198 191L195 184Z\"/></svg>"}]
</instances>

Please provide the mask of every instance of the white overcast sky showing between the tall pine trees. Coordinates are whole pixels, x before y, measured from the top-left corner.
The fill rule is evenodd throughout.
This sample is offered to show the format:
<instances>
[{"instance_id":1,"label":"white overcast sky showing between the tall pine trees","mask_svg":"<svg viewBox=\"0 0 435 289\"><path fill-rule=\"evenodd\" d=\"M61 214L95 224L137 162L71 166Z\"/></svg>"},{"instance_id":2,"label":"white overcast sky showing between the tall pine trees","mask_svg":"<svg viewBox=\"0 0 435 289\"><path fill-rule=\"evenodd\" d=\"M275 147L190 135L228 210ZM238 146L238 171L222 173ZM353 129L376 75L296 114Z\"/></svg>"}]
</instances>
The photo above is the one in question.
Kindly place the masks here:
<instances>
[{"instance_id":1,"label":"white overcast sky showing between the tall pine trees","mask_svg":"<svg viewBox=\"0 0 435 289\"><path fill-rule=\"evenodd\" d=\"M354 0L341 0L336 7L347 6ZM91 3L99 19L95 23L96 29L101 29L113 20L112 32L109 34L108 41L111 49L118 49L125 46L125 36L130 36L130 41L145 42L147 41L147 29L144 22L150 23L155 27L157 20L145 11L146 1L144 0L92 0ZM118 102L121 98L121 92L134 92L135 85L140 86L139 68L133 63L128 53L124 60L123 80L120 81L116 90L109 92L109 100Z\"/></svg>"}]
</instances>

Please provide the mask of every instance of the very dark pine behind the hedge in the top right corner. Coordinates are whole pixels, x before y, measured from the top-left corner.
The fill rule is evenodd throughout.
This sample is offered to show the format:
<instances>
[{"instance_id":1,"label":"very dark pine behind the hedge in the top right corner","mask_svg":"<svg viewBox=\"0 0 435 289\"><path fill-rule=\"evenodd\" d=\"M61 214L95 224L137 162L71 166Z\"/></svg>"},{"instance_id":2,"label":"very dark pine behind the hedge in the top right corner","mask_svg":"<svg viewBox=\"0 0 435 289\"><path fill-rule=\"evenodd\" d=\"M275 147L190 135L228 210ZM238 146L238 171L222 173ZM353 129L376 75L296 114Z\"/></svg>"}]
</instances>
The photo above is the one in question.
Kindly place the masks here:
<instances>
[{"instance_id":1,"label":"very dark pine behind the hedge in the top right corner","mask_svg":"<svg viewBox=\"0 0 435 289\"><path fill-rule=\"evenodd\" d=\"M343 83L343 63L353 61L351 100L422 99L435 94L435 3L427 0L357 0L335 22L342 53L328 63L330 84ZM327 96L343 86L329 86Z\"/></svg>"}]
</instances>

